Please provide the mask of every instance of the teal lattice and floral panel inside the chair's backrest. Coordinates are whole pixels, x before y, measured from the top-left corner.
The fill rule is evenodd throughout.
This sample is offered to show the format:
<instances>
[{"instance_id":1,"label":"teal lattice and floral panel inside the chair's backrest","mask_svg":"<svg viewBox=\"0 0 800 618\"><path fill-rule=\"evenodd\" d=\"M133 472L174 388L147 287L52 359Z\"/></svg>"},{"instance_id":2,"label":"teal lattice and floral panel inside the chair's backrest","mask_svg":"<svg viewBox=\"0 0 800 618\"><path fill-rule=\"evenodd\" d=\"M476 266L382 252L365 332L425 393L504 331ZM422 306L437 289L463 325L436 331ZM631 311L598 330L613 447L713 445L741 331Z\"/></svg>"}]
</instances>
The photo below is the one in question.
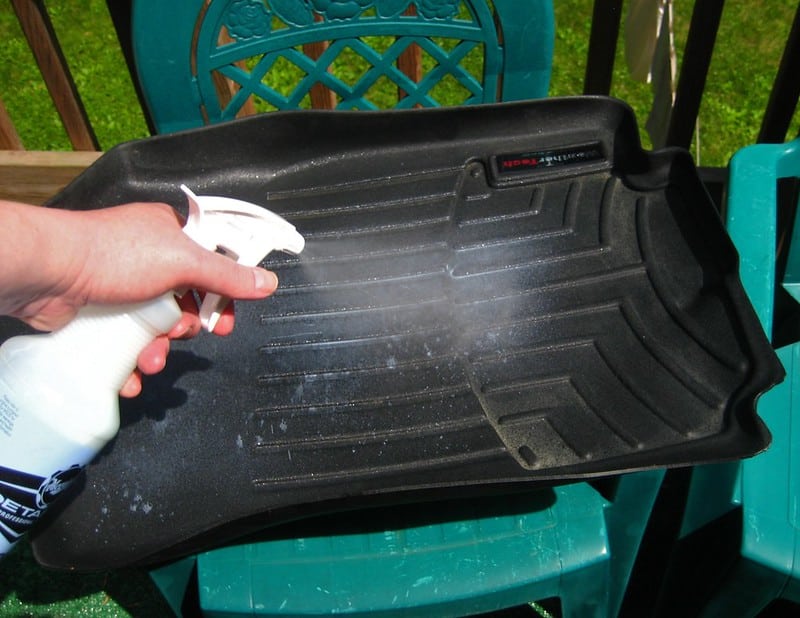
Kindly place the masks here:
<instances>
[{"instance_id":1,"label":"teal lattice and floral panel inside the chair's backrest","mask_svg":"<svg viewBox=\"0 0 800 618\"><path fill-rule=\"evenodd\" d=\"M483 0L210 0L192 70L206 122L488 103L500 100L495 24Z\"/></svg>"}]
</instances>

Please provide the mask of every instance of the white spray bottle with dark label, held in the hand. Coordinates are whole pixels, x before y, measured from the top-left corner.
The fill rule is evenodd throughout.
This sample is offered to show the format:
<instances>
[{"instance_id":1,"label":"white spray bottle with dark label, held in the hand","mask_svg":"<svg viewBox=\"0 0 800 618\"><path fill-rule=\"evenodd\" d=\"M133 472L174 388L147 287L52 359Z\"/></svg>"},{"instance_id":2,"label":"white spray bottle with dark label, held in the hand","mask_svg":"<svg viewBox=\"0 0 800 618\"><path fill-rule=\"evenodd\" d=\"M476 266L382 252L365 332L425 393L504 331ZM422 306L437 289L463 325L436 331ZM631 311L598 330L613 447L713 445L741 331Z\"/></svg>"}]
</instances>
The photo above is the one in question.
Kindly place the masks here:
<instances>
[{"instance_id":1,"label":"white spray bottle with dark label, held in the hand","mask_svg":"<svg viewBox=\"0 0 800 618\"><path fill-rule=\"evenodd\" d=\"M273 250L303 250L303 237L278 215L181 188L189 198L184 231L206 249L247 266ZM200 319L207 330L227 303L206 295ZM116 435L118 393L139 352L180 317L172 293L87 306L59 331L0 346L0 558Z\"/></svg>"}]
</instances>

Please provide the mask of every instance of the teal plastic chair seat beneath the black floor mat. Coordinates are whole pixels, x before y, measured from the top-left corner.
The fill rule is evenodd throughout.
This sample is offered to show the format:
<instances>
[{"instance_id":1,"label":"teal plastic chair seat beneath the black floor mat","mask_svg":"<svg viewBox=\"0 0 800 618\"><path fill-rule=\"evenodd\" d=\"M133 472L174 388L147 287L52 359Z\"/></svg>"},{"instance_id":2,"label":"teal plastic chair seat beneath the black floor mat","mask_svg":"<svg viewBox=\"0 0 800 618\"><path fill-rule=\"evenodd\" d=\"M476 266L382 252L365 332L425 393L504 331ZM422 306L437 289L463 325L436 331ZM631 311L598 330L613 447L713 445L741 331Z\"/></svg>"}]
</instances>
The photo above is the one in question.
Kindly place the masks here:
<instances>
[{"instance_id":1,"label":"teal plastic chair seat beneath the black floor mat","mask_svg":"<svg viewBox=\"0 0 800 618\"><path fill-rule=\"evenodd\" d=\"M544 599L557 600L564 617L611 617L663 477L652 470L606 481L602 492L576 483L446 503L442 523L373 524L366 532L350 522L380 516L364 511L345 516L338 533L328 520L319 536L233 545L151 576L178 613L196 575L207 617L457 617ZM392 519L409 512L400 509Z\"/></svg>"}]
</instances>

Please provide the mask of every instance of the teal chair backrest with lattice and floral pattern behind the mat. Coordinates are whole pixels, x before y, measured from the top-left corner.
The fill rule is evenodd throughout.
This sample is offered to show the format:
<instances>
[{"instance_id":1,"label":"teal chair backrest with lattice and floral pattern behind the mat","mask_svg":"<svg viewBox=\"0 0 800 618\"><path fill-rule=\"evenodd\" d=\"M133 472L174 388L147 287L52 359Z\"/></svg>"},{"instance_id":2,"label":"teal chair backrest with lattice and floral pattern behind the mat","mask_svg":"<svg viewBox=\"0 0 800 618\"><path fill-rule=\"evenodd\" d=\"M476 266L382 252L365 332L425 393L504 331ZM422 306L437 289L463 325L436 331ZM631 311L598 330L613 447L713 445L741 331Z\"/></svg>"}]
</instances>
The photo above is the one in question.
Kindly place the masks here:
<instances>
[{"instance_id":1,"label":"teal chair backrest with lattice and floral pattern behind the mat","mask_svg":"<svg viewBox=\"0 0 800 618\"><path fill-rule=\"evenodd\" d=\"M260 111L547 95L552 0L135 0L161 133Z\"/></svg>"}]
</instances>

